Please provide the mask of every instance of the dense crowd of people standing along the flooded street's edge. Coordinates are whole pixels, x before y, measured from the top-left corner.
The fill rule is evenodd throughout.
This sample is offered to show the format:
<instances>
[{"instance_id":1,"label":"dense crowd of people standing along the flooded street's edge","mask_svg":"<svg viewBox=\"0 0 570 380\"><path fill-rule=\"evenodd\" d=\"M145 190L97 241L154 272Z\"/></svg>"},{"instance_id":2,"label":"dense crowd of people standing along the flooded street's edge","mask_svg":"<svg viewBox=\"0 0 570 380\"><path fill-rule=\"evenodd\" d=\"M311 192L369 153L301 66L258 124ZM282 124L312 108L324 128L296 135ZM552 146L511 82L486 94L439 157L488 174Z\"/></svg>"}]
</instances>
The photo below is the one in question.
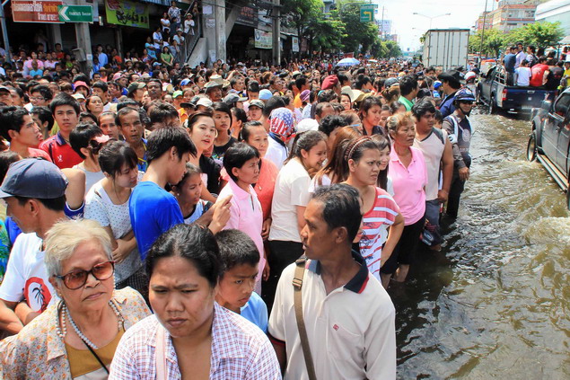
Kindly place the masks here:
<instances>
[{"instance_id":1,"label":"dense crowd of people standing along the flooded street's edge","mask_svg":"<svg viewBox=\"0 0 570 380\"><path fill-rule=\"evenodd\" d=\"M0 377L396 377L386 289L469 180L462 68L64 66L0 85Z\"/></svg>"}]
</instances>

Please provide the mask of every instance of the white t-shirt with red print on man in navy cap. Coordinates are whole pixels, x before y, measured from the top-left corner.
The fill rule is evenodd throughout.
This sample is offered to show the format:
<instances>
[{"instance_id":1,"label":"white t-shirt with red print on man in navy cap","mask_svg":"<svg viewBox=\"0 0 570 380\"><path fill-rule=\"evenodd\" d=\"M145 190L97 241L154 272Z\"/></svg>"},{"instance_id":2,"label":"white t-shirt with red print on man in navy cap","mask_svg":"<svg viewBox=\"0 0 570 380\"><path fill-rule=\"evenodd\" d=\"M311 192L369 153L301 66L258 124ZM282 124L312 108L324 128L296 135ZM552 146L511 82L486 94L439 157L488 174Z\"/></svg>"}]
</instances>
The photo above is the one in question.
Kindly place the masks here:
<instances>
[{"instance_id":1,"label":"white t-shirt with red print on man in navy cap","mask_svg":"<svg viewBox=\"0 0 570 380\"><path fill-rule=\"evenodd\" d=\"M13 243L10 260L0 285L0 298L9 302L26 300L34 312L43 312L57 299L49 283L43 241L37 234L20 234Z\"/></svg>"}]
</instances>

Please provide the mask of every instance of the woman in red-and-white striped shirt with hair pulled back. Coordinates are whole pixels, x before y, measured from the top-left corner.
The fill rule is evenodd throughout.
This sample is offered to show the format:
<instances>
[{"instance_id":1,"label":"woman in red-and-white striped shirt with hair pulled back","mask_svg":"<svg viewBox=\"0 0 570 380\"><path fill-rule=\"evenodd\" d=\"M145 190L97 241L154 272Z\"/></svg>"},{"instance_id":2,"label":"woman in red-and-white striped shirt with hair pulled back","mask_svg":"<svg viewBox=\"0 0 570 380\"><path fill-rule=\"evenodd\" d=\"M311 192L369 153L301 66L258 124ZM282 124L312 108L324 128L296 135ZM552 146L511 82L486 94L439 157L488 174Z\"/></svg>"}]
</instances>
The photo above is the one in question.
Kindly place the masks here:
<instances>
[{"instance_id":1,"label":"woman in red-and-white striped shirt with hair pulled back","mask_svg":"<svg viewBox=\"0 0 570 380\"><path fill-rule=\"evenodd\" d=\"M363 202L360 254L383 287L388 287L390 275L381 274L381 266L394 251L404 229L398 205L386 190L377 186L378 177L388 170L389 162L390 143L386 138L374 142L370 137L360 137L346 148L345 183L360 191Z\"/></svg>"}]
</instances>

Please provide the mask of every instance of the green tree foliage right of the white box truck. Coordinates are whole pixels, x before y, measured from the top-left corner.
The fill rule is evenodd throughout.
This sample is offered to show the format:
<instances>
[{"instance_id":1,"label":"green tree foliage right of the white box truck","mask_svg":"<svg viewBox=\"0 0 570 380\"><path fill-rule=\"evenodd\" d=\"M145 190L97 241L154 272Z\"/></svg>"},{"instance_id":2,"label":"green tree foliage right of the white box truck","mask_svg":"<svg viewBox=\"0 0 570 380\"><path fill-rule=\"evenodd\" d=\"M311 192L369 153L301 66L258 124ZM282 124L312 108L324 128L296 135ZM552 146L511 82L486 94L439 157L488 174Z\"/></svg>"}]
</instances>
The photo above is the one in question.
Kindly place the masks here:
<instances>
[{"instance_id":1,"label":"green tree foliage right of the white box truck","mask_svg":"<svg viewBox=\"0 0 570 380\"><path fill-rule=\"evenodd\" d=\"M483 31L477 31L469 36L469 53L478 53L482 33ZM491 29L483 33L481 53L487 57L497 57L500 51L518 42L522 42L523 45L546 48L556 45L563 37L564 30L560 28L560 22L534 22L508 33Z\"/></svg>"}]
</instances>

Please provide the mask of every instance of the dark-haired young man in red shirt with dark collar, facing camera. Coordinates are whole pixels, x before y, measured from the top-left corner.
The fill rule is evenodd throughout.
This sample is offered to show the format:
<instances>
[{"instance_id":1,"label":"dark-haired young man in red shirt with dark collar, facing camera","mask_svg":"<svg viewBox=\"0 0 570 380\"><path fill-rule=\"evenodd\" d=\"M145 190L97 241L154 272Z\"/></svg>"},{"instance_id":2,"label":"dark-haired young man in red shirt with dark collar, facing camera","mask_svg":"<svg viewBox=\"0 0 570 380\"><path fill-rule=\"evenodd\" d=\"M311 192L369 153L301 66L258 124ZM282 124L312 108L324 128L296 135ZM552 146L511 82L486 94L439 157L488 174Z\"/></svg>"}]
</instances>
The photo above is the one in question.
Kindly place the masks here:
<instances>
[{"instance_id":1,"label":"dark-haired young man in red shirt with dark collar, facing camera","mask_svg":"<svg viewBox=\"0 0 570 380\"><path fill-rule=\"evenodd\" d=\"M71 168L83 161L69 145L69 135L79 122L81 108L68 93L58 93L49 108L56 119L59 132L41 143L39 149L45 151L59 169Z\"/></svg>"}]
</instances>

